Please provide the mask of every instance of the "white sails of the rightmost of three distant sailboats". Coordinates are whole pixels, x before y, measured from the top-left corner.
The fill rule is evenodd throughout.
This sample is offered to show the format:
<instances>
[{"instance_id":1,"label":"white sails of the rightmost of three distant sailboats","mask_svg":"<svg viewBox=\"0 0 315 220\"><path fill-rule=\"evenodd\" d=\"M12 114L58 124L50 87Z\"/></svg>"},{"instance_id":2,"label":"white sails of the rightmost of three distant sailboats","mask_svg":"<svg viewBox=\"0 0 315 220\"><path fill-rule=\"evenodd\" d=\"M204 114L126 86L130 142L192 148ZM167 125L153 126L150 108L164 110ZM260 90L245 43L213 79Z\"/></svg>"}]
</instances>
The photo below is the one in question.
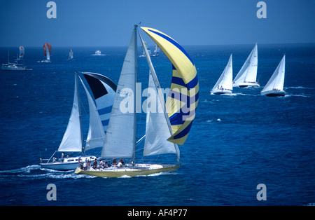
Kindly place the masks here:
<instances>
[{"instance_id":1,"label":"white sails of the rightmost of three distant sailboats","mask_svg":"<svg viewBox=\"0 0 315 220\"><path fill-rule=\"evenodd\" d=\"M284 74L285 74L285 66L286 66L286 55L283 55L281 62L276 67L274 74L269 79L265 87L262 89L262 92L269 90L283 90L284 84Z\"/></svg>"}]
</instances>

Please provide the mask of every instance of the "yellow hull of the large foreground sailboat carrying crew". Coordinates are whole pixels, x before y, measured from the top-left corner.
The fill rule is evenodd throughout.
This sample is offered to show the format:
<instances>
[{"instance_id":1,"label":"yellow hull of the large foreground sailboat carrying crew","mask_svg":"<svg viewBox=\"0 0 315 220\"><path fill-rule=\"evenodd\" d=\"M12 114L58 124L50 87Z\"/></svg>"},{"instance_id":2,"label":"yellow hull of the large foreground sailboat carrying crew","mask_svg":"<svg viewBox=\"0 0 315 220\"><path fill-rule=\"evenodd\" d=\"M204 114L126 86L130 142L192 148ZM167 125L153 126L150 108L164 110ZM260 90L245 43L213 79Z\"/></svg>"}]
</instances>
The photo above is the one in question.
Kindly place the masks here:
<instances>
[{"instance_id":1,"label":"yellow hull of the large foreground sailboat carrying crew","mask_svg":"<svg viewBox=\"0 0 315 220\"><path fill-rule=\"evenodd\" d=\"M81 170L80 167L76 168L75 174L85 174L95 177L136 177L147 176L150 174L156 174L160 172L169 172L177 170L181 165L158 165L158 164L137 164L135 166L127 167L109 167L105 169L90 169Z\"/></svg>"}]
</instances>

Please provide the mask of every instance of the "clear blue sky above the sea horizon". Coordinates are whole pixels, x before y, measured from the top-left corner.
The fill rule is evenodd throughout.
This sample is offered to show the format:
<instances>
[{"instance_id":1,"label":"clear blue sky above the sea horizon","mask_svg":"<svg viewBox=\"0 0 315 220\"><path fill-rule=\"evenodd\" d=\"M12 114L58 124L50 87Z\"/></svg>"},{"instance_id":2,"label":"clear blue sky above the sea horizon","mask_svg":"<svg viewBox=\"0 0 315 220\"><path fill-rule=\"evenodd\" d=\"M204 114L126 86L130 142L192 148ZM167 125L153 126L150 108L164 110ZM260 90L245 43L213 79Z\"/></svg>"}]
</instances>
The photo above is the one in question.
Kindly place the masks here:
<instances>
[{"instance_id":1,"label":"clear blue sky above the sea horizon","mask_svg":"<svg viewBox=\"0 0 315 220\"><path fill-rule=\"evenodd\" d=\"M181 45L315 43L315 0L0 0L0 46L127 46L134 24ZM145 34L141 34L144 36Z\"/></svg>"}]
</instances>

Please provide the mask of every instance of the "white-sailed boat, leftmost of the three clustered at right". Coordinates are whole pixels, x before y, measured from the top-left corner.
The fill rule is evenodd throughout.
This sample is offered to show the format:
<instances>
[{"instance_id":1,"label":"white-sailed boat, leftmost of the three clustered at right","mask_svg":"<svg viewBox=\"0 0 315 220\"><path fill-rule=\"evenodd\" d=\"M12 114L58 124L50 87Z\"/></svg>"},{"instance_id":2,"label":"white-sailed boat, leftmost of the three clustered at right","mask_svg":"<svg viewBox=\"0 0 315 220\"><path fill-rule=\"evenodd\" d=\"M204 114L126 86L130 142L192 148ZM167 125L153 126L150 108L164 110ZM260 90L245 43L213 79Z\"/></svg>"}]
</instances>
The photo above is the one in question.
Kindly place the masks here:
<instances>
[{"instance_id":1,"label":"white-sailed boat, leftmost of the three clustered at right","mask_svg":"<svg viewBox=\"0 0 315 220\"><path fill-rule=\"evenodd\" d=\"M230 55L230 60L226 65L223 73L221 74L220 78L212 88L211 93L215 95L222 95L222 94L232 94L233 86L232 86L232 54Z\"/></svg>"}]
</instances>

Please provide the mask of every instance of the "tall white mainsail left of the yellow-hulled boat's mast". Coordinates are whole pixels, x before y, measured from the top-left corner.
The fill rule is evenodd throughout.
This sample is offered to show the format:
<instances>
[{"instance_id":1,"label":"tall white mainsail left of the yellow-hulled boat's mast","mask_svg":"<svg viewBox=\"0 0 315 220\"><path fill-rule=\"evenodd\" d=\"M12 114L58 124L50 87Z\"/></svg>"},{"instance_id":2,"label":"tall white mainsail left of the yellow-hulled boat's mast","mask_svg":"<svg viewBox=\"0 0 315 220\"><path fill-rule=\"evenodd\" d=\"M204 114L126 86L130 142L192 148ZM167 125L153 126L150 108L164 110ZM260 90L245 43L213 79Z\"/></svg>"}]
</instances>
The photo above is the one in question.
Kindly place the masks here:
<instances>
[{"instance_id":1,"label":"tall white mainsail left of the yellow-hulled boat's mast","mask_svg":"<svg viewBox=\"0 0 315 220\"><path fill-rule=\"evenodd\" d=\"M135 91L137 81L137 29L134 29L120 74L102 157L133 158L136 146Z\"/></svg>"}]
</instances>

